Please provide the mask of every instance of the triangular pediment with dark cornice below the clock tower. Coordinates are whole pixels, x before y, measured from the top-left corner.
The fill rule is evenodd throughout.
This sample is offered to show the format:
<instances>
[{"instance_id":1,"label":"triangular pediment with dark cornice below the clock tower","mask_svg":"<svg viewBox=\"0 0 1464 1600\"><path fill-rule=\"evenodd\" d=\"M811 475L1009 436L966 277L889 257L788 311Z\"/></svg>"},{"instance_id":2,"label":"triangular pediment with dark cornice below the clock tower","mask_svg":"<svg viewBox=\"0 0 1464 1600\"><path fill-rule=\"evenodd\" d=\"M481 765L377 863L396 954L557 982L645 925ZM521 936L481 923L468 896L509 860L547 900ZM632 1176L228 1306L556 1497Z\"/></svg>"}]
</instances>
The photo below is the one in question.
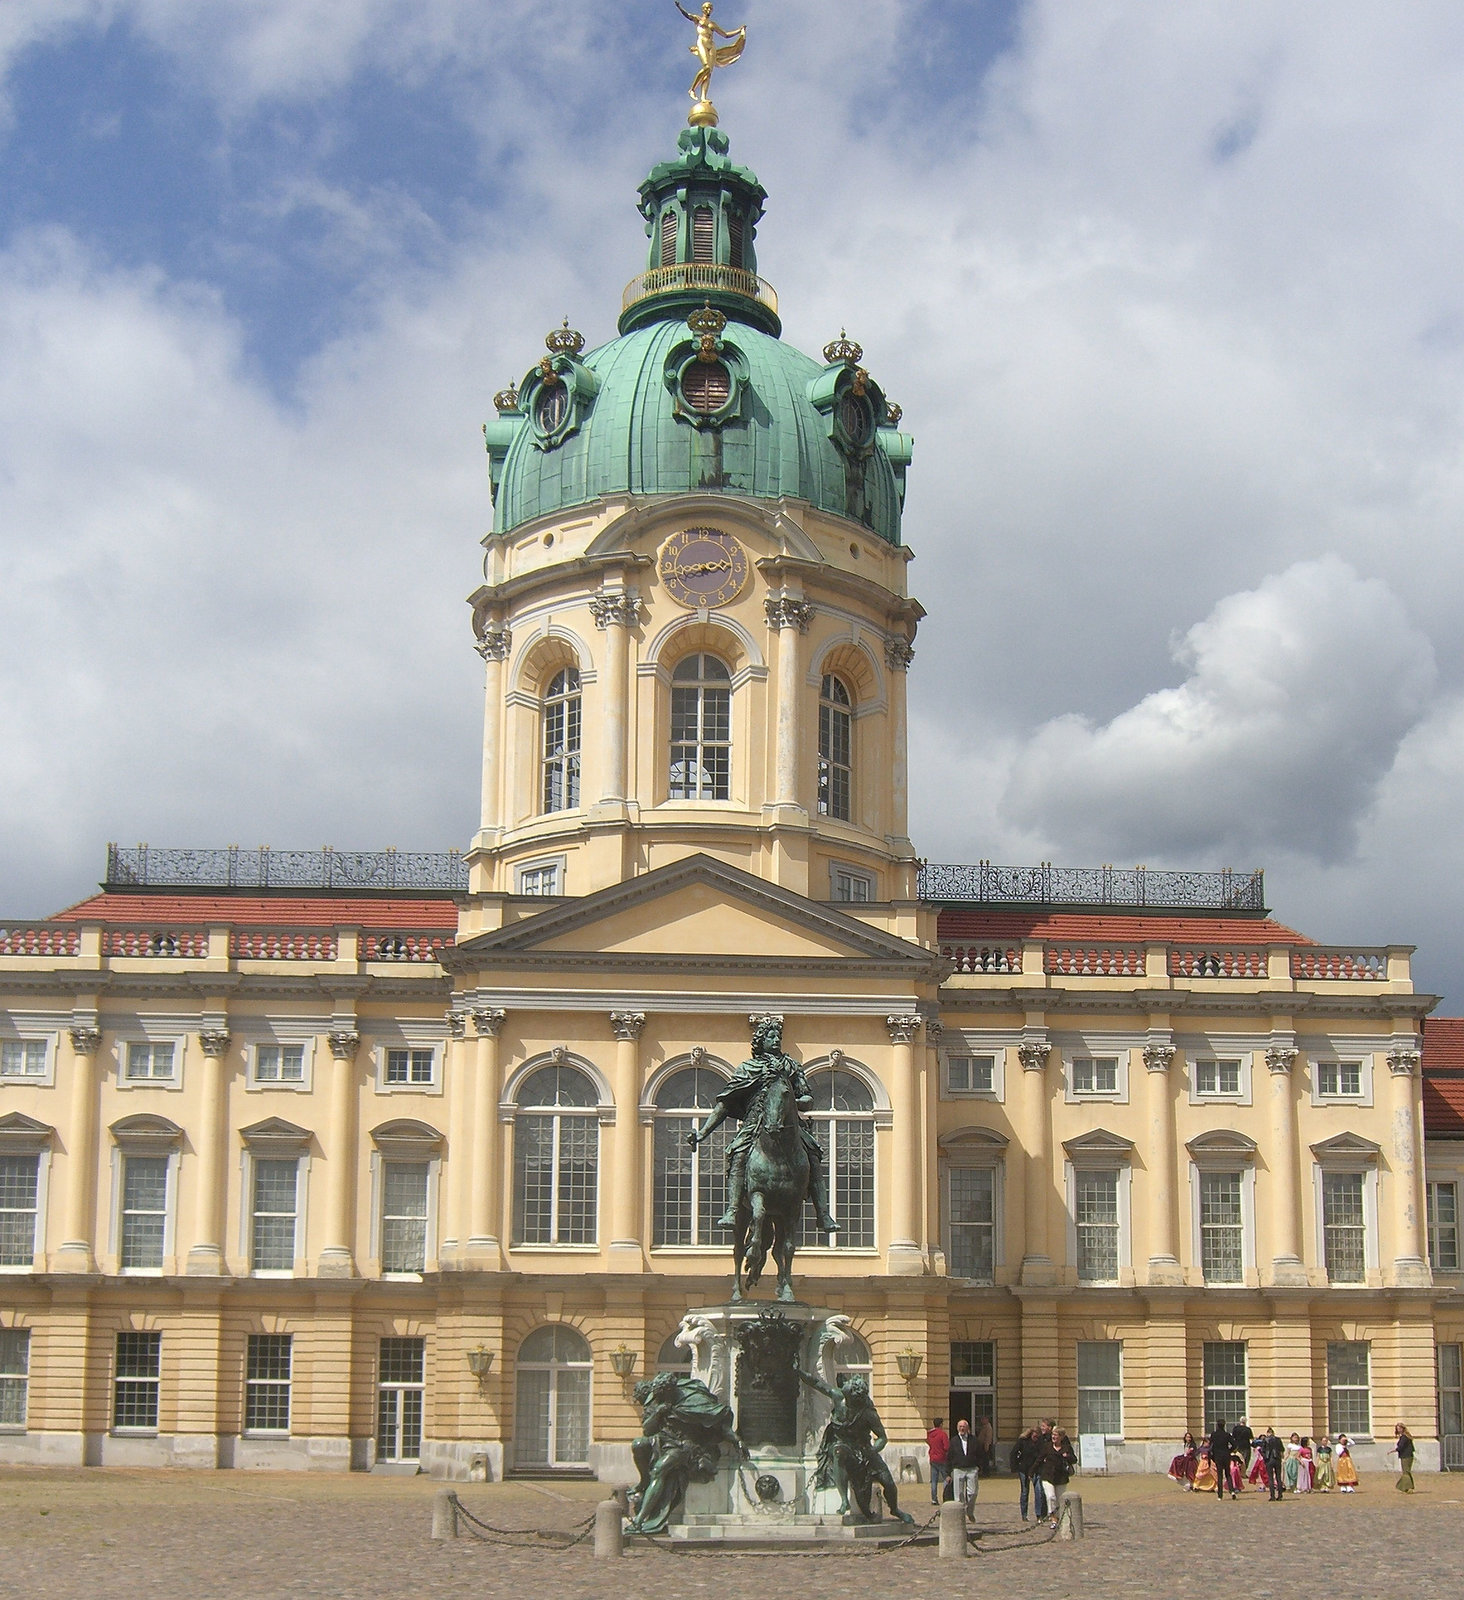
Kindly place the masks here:
<instances>
[{"instance_id":1,"label":"triangular pediment with dark cornice below the clock tower","mask_svg":"<svg viewBox=\"0 0 1464 1600\"><path fill-rule=\"evenodd\" d=\"M918 944L701 854L466 939L450 963L461 970L574 955L622 965L856 962L909 978L934 976L939 965Z\"/></svg>"}]
</instances>

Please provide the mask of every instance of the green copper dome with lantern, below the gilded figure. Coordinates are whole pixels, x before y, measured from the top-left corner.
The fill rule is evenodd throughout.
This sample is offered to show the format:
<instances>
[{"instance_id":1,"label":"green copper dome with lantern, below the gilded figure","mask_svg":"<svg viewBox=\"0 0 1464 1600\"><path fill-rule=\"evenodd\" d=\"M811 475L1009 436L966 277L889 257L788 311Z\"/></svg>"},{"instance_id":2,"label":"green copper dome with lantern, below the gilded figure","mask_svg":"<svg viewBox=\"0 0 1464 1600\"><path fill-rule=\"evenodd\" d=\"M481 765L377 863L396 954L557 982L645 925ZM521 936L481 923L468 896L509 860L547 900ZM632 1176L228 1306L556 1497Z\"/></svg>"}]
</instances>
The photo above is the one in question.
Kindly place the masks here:
<instances>
[{"instance_id":1,"label":"green copper dome with lantern, below the gilded figure","mask_svg":"<svg viewBox=\"0 0 1464 1600\"><path fill-rule=\"evenodd\" d=\"M568 326L485 429L494 533L614 494L803 499L899 544L912 440L840 338L816 362L778 334L755 274L763 189L717 128L640 189L648 266L621 336L582 354Z\"/></svg>"}]
</instances>

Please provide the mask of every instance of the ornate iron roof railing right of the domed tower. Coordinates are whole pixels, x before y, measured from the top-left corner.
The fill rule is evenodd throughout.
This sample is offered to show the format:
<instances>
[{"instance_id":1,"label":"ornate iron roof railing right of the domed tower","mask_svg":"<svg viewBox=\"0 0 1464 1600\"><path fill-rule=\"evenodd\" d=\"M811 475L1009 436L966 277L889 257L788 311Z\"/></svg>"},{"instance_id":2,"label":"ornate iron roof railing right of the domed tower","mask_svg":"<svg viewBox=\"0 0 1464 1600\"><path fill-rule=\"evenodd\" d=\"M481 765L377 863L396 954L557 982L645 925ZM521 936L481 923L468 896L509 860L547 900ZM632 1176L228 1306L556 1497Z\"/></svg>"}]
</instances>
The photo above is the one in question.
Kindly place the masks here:
<instances>
[{"instance_id":1,"label":"ornate iron roof railing right of the domed tower","mask_svg":"<svg viewBox=\"0 0 1464 1600\"><path fill-rule=\"evenodd\" d=\"M1146 910L1266 910L1266 874L1149 867L997 867L920 862L923 901L974 906L1115 906Z\"/></svg>"}]
</instances>

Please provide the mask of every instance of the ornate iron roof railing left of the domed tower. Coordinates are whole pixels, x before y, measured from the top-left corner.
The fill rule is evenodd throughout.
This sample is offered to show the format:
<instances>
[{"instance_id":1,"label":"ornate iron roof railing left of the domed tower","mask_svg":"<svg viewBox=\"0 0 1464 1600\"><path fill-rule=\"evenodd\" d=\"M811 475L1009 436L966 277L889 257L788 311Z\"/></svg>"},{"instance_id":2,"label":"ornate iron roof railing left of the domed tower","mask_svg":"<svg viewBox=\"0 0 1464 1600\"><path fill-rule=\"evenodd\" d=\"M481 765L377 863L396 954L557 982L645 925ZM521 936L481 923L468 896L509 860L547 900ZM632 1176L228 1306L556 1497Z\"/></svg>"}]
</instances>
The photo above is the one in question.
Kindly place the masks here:
<instances>
[{"instance_id":1,"label":"ornate iron roof railing left of the domed tower","mask_svg":"<svg viewBox=\"0 0 1464 1600\"><path fill-rule=\"evenodd\" d=\"M459 850L154 850L107 845L104 888L170 890L467 890Z\"/></svg>"}]
</instances>

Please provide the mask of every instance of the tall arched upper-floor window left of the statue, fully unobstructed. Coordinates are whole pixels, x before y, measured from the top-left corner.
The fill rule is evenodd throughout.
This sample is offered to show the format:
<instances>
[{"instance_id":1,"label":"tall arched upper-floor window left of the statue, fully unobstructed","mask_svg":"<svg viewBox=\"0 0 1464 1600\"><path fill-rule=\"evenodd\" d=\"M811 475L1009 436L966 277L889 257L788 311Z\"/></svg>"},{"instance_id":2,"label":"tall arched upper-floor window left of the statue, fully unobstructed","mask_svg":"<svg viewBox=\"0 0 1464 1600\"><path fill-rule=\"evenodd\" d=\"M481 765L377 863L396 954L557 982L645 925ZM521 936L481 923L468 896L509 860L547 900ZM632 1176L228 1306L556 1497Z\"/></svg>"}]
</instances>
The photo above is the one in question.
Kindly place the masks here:
<instances>
[{"instance_id":1,"label":"tall arched upper-floor window left of the statue, fully unobstructed","mask_svg":"<svg viewBox=\"0 0 1464 1600\"><path fill-rule=\"evenodd\" d=\"M578 1069L539 1067L514 1117L514 1243L594 1245L600 1176L595 1085Z\"/></svg>"}]
</instances>

